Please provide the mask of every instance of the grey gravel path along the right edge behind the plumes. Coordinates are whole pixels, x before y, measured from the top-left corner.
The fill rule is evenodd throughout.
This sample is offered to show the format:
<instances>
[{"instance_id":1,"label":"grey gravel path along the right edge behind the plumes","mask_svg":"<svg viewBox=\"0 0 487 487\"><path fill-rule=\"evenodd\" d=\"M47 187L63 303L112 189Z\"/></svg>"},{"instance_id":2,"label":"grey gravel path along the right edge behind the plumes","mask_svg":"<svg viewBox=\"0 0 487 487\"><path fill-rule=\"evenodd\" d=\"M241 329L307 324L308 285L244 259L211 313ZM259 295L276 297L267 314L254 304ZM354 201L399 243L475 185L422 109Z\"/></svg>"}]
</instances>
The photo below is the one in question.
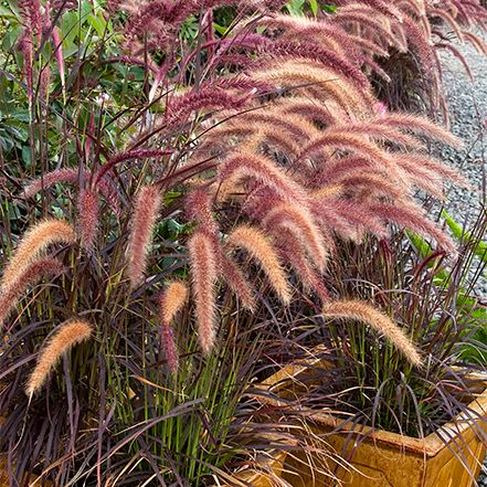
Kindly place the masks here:
<instances>
[{"instance_id":1,"label":"grey gravel path along the right edge behind the plumes","mask_svg":"<svg viewBox=\"0 0 487 487\"><path fill-rule=\"evenodd\" d=\"M479 34L487 40L487 34ZM442 53L444 84L447 92L451 129L465 142L460 150L446 147L443 159L458 169L473 189L453 186L445 204L448 213L460 224L472 225L486 203L487 173L487 57L470 44L456 44L465 56L474 82L462 62L449 52ZM487 235L486 235L487 237ZM487 297L487 279L480 279L476 293ZM487 483L485 484L487 486Z\"/></svg>"}]
</instances>

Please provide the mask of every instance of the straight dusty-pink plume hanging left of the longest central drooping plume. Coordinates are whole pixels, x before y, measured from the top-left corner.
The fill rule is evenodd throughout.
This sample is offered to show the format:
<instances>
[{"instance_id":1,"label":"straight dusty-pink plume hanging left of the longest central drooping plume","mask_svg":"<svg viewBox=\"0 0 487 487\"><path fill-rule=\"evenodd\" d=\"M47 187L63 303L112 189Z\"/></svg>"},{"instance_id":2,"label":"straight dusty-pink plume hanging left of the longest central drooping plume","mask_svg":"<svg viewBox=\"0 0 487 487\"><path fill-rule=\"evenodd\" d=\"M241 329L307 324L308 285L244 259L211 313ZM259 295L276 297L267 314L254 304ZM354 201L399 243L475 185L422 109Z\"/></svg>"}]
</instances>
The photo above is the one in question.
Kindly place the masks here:
<instances>
[{"instance_id":1,"label":"straight dusty-pink plume hanging left of the longest central drooping plume","mask_svg":"<svg viewBox=\"0 0 487 487\"><path fill-rule=\"evenodd\" d=\"M131 287L144 280L147 256L152 244L152 234L162 204L162 195L157 186L144 186L137 193L131 216L131 227L127 247L127 274Z\"/></svg>"}]
</instances>

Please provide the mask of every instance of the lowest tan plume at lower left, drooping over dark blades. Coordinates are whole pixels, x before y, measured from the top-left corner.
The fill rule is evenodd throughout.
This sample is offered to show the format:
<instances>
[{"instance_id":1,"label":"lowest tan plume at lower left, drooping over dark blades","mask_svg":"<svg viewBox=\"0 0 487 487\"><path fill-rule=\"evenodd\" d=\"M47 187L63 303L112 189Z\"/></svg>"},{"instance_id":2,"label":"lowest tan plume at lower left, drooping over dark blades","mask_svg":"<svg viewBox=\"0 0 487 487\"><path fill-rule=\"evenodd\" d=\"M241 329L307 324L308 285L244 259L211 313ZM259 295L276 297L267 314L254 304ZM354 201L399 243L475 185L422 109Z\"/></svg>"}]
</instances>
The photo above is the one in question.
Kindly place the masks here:
<instances>
[{"instance_id":1,"label":"lowest tan plume at lower left, drooping over dark blades","mask_svg":"<svg viewBox=\"0 0 487 487\"><path fill-rule=\"evenodd\" d=\"M91 335L92 327L86 321L73 320L61 325L39 352L38 363L25 387L27 395L32 396L38 392L63 354L75 345L87 340Z\"/></svg>"}]
</instances>

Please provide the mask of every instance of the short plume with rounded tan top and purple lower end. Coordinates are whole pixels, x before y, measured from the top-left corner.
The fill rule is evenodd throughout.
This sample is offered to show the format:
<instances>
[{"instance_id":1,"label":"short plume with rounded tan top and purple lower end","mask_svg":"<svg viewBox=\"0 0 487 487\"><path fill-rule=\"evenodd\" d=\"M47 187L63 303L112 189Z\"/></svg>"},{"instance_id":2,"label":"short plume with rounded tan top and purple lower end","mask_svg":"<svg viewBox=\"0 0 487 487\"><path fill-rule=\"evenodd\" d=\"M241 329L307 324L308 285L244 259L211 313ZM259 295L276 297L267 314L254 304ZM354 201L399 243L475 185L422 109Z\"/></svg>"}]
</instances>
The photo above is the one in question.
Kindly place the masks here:
<instances>
[{"instance_id":1,"label":"short plume with rounded tan top and purple lower end","mask_svg":"<svg viewBox=\"0 0 487 487\"><path fill-rule=\"evenodd\" d=\"M179 368L179 352L171 321L184 306L187 298L188 287L181 280L169 283L159 296L160 345L172 373Z\"/></svg>"}]
</instances>

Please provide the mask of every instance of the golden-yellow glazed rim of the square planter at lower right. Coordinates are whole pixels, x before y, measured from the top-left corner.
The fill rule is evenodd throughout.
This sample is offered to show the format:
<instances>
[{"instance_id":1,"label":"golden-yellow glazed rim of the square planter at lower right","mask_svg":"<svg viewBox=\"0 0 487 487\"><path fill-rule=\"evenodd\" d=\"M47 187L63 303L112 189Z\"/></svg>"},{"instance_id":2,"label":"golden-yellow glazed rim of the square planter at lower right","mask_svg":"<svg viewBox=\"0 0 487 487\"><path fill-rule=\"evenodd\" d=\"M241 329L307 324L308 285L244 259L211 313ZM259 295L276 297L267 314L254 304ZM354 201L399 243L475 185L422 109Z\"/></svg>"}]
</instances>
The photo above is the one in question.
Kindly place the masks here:
<instances>
[{"instance_id":1,"label":"golden-yellow glazed rim of the square planter at lower right","mask_svg":"<svg viewBox=\"0 0 487 487\"><path fill-rule=\"evenodd\" d=\"M289 364L282 368L279 371L271 375L265 381L255 385L256 390L262 392L278 392L285 387L285 380L295 380L304 371L306 371L309 366L316 366L321 359L310 358L306 362L303 361L300 364ZM372 428L371 426L352 425L347 423L346 420L335 416L331 412L325 412L319 410L314 410L310 407L300 407L299 412L306 413L306 417L311 419L316 423L327 426L330 430L338 430L334 434L346 434L353 431L354 434L360 436L367 436L369 441L389 444L390 446L402 448L404 451L413 452L421 455L426 455L427 457L434 457L437 455L445 446L457 441L460 436L469 430L474 424L483 421L487 417L487 372L479 373L473 372L469 374L472 379L478 380L483 383L483 390L479 394L475 394L474 399L468 403L468 413L460 413L455 416L449 422L440 426L433 433L424 436L423 438L416 438L413 436L407 436L401 433L393 433L387 430ZM278 399L269 398L267 394L258 394L253 392L251 394L262 404L275 405L275 406L287 406L288 404ZM486 420L487 424L487 420Z\"/></svg>"}]
</instances>

